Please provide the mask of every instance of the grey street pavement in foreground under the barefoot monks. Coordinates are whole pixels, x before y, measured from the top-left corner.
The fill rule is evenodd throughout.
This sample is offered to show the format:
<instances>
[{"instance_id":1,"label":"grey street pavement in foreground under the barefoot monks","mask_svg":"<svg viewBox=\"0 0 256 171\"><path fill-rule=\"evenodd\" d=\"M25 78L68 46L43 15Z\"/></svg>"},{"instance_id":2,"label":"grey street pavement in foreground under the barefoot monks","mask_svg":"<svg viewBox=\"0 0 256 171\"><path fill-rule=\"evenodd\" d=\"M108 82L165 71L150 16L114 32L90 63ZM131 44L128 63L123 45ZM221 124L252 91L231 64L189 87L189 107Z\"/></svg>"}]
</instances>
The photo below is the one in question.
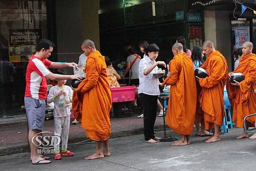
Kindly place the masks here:
<instances>
[{"instance_id":1,"label":"grey street pavement in foreground under the barefoot monks","mask_svg":"<svg viewBox=\"0 0 256 171\"><path fill-rule=\"evenodd\" d=\"M242 129L221 134L220 142L206 143L205 137L191 136L191 144L171 146L172 142L144 142L143 134L110 139L111 157L85 160L95 151L95 143L68 146L73 157L63 157L47 165L32 165L29 152L0 157L1 171L255 171L256 139L236 139ZM167 133L179 138L177 133ZM156 136L163 137L163 131Z\"/></svg>"}]
</instances>

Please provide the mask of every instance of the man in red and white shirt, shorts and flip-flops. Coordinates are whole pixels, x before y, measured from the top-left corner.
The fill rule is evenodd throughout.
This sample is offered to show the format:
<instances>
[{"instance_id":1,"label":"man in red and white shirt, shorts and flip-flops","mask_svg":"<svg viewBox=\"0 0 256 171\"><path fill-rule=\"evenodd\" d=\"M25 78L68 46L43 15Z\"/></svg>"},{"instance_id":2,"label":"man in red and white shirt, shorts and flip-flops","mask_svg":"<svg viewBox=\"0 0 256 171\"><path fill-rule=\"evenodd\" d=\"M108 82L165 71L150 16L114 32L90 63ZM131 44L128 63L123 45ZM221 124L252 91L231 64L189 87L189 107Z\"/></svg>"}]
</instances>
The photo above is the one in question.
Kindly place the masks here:
<instances>
[{"instance_id":1,"label":"man in red and white shirt, shorts and flip-flops","mask_svg":"<svg viewBox=\"0 0 256 171\"><path fill-rule=\"evenodd\" d=\"M51 62L47 58L51 55L54 43L47 39L41 39L36 47L36 53L29 59L26 70L26 92L24 103L26 107L27 120L29 125L29 145L31 150L32 164L48 164L49 157L44 157L37 153L37 146L32 142L32 138L44 128L45 100L47 98L47 81L82 79L80 75L59 75L50 72L50 68L77 67L76 63Z\"/></svg>"}]
</instances>

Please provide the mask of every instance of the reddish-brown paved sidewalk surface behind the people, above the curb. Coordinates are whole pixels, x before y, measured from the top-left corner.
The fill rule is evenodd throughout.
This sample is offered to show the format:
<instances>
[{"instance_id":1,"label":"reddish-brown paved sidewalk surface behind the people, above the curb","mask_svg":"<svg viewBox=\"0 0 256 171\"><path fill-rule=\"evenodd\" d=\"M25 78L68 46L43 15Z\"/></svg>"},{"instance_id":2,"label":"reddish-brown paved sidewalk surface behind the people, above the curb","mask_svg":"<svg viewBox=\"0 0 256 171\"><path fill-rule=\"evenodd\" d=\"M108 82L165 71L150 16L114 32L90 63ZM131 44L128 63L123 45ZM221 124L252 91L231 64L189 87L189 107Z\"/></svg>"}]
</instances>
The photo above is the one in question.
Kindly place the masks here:
<instances>
[{"instance_id":1,"label":"reddish-brown paved sidewalk surface behind the people, above the curb","mask_svg":"<svg viewBox=\"0 0 256 171\"><path fill-rule=\"evenodd\" d=\"M111 138L143 133L143 119L137 118L139 114L140 110L136 108L131 117L111 117ZM71 121L73 121L73 119L71 119ZM24 117L20 122L12 120L10 123L0 123L0 127L0 156L29 151L27 140L28 128ZM161 128L163 128L163 117L157 117L155 129ZM44 122L43 131L54 132L53 119ZM87 138L85 137L85 130L81 128L81 124L70 125L68 143L76 143L84 140L87 140Z\"/></svg>"}]
</instances>

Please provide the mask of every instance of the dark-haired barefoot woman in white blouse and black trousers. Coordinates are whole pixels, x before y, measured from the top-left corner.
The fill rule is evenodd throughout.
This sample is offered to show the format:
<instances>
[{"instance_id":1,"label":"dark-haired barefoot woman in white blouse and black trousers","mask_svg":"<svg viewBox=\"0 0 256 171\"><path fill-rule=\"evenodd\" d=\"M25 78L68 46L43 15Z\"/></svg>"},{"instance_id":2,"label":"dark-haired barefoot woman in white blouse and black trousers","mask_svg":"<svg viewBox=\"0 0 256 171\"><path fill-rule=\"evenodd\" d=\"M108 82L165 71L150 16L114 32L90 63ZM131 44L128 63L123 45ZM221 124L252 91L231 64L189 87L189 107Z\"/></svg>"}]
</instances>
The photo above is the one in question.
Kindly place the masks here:
<instances>
[{"instance_id":1,"label":"dark-haired barefoot woman in white blouse and black trousers","mask_svg":"<svg viewBox=\"0 0 256 171\"><path fill-rule=\"evenodd\" d=\"M154 136L154 123L157 113L157 97L160 95L157 65L166 67L165 62L155 61L159 52L157 44L152 43L146 49L146 55L140 60L139 79L140 85L138 93L142 96L144 114L144 136L145 142L156 143L161 138ZM164 71L163 71L164 72Z\"/></svg>"}]
</instances>

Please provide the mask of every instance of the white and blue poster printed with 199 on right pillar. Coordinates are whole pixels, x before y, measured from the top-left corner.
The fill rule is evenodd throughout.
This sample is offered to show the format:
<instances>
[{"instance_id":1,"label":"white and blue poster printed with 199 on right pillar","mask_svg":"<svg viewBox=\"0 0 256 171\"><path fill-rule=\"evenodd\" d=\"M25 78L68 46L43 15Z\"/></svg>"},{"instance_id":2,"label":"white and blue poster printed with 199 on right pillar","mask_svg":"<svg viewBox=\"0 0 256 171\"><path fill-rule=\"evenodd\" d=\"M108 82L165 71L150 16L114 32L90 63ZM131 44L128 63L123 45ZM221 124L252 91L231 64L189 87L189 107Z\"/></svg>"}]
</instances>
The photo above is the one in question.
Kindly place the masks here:
<instances>
[{"instance_id":1,"label":"white and blue poster printed with 199 on right pillar","mask_svg":"<svg viewBox=\"0 0 256 171\"><path fill-rule=\"evenodd\" d=\"M250 41L249 26L236 26L234 27L236 48L241 48L245 41Z\"/></svg>"}]
</instances>

